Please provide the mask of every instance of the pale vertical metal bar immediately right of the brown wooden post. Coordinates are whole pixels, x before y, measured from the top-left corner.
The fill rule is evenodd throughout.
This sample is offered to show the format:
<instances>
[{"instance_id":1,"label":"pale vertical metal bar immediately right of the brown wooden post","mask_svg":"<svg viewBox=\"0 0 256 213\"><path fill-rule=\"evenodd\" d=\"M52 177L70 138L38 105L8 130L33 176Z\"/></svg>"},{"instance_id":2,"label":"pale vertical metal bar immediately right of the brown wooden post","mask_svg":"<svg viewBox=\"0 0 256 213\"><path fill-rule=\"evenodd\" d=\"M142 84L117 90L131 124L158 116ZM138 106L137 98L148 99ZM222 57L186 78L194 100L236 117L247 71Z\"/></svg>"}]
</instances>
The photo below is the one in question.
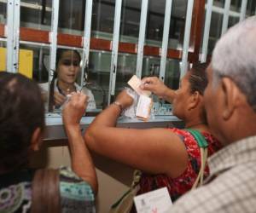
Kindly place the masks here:
<instances>
[{"instance_id":1,"label":"pale vertical metal bar immediately right of the brown wooden post","mask_svg":"<svg viewBox=\"0 0 256 213\"><path fill-rule=\"evenodd\" d=\"M213 0L207 0L207 14L206 14L206 22L205 22L205 29L204 29L204 37L201 49L201 62L207 61L207 50L208 50L208 43L209 43L209 34L210 34L210 27L211 27L211 20L212 20L212 4Z\"/></svg>"}]
</instances>

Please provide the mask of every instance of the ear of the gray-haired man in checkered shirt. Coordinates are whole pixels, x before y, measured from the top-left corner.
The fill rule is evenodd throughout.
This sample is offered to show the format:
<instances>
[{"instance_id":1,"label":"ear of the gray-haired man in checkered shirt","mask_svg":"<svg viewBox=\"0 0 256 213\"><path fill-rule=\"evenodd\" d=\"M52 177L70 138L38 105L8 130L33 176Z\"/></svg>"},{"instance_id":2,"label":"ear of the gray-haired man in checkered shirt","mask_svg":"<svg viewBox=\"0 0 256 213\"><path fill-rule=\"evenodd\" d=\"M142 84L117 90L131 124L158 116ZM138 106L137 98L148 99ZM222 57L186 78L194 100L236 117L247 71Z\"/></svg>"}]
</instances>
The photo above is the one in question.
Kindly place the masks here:
<instances>
[{"instance_id":1,"label":"ear of the gray-haired man in checkered shirt","mask_svg":"<svg viewBox=\"0 0 256 213\"><path fill-rule=\"evenodd\" d=\"M228 120L234 113L240 100L240 90L230 78L222 78L221 89L224 95L222 117L224 120Z\"/></svg>"}]
</instances>

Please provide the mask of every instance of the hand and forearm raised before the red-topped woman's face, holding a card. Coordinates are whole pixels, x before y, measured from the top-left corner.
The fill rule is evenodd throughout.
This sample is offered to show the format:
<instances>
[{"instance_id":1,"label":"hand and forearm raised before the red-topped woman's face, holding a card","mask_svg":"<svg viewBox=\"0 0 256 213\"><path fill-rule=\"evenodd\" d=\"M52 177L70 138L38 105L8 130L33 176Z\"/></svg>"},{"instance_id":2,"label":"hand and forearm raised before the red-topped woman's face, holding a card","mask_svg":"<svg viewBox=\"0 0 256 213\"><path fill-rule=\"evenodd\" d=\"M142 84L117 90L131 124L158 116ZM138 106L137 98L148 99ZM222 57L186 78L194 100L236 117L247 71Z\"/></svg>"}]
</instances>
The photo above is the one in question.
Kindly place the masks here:
<instances>
[{"instance_id":1,"label":"hand and forearm raised before the red-topped woman's face, holding a card","mask_svg":"<svg viewBox=\"0 0 256 213\"><path fill-rule=\"evenodd\" d=\"M159 78L156 77L147 77L143 78L143 83L141 85L141 89L149 90L154 93L154 95L159 96L160 98L164 99L172 103L175 97L175 91L168 88L165 83L163 83Z\"/></svg>"}]
</instances>

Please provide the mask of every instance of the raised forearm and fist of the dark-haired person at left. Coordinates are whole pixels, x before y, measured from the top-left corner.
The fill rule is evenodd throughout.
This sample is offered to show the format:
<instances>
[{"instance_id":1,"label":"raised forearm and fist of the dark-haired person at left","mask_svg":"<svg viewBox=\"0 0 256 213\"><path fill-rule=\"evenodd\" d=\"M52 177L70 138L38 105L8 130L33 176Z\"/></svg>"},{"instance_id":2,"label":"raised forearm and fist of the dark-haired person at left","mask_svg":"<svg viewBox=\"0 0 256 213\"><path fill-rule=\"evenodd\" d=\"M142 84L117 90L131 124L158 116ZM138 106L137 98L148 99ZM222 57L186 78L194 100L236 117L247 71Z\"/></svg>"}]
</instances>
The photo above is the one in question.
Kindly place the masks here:
<instances>
[{"instance_id":1,"label":"raised forearm and fist of the dark-haired person at left","mask_svg":"<svg viewBox=\"0 0 256 213\"><path fill-rule=\"evenodd\" d=\"M85 112L86 99L86 95L74 93L62 111L62 119L67 133L72 169L80 178L87 181L97 193L98 183L95 166L80 130L80 119Z\"/></svg>"}]
</instances>

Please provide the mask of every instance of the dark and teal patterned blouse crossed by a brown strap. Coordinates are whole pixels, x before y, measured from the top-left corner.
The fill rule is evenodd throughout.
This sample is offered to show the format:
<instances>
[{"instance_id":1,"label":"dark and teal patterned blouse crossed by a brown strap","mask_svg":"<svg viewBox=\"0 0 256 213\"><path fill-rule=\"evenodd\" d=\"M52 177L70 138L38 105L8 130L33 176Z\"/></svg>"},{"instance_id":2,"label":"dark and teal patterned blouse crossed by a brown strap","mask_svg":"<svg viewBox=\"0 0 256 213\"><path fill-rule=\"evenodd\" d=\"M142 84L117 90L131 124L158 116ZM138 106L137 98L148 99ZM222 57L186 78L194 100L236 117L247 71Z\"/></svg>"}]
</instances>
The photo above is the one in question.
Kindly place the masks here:
<instances>
[{"instance_id":1,"label":"dark and teal patterned blouse crossed by a brown strap","mask_svg":"<svg viewBox=\"0 0 256 213\"><path fill-rule=\"evenodd\" d=\"M30 212L34 170L0 176L0 212ZM90 185L69 167L60 169L61 212L95 213L95 198Z\"/></svg>"}]
</instances>

